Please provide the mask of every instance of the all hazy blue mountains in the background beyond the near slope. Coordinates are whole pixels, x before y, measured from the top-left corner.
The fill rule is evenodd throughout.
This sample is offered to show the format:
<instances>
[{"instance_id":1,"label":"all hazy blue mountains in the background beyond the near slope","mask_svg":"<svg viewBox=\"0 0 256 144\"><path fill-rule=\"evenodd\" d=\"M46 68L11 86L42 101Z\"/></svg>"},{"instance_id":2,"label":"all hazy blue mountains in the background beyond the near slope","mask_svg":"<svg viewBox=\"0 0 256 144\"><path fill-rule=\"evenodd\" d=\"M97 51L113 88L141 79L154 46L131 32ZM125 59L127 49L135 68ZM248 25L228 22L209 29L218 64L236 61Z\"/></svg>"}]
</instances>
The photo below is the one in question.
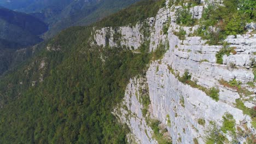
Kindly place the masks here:
<instances>
[{"instance_id":1,"label":"all hazy blue mountains in the background beyond the near slope","mask_svg":"<svg viewBox=\"0 0 256 144\"><path fill-rule=\"evenodd\" d=\"M0 75L31 56L33 49L17 50L49 39L62 29L89 25L136 1L0 0ZM24 51L29 55L20 53Z\"/></svg>"}]
</instances>

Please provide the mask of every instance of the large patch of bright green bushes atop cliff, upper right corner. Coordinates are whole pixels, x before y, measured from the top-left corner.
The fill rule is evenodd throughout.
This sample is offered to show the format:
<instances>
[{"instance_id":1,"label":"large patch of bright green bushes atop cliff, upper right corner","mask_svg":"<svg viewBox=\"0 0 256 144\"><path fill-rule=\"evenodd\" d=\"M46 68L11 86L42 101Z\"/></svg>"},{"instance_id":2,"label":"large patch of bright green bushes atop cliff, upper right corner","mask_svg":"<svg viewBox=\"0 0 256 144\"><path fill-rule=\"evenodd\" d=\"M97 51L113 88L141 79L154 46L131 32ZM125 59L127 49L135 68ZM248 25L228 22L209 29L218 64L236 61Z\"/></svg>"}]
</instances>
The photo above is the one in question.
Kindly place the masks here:
<instances>
[{"instance_id":1,"label":"large patch of bright green bushes atop cliff, upper right corner","mask_svg":"<svg viewBox=\"0 0 256 144\"><path fill-rule=\"evenodd\" d=\"M201 28L198 29L199 34L203 39L209 39L208 44L219 45L220 41L224 40L230 34L245 33L245 23L255 20L255 2L253 0L224 0L224 6L216 7L209 5L204 9L200 22ZM248 8L246 5L250 5ZM241 9L237 9L240 8ZM246 10L245 10L246 9ZM246 13L245 11L249 11ZM216 27L214 31L210 26Z\"/></svg>"}]
</instances>

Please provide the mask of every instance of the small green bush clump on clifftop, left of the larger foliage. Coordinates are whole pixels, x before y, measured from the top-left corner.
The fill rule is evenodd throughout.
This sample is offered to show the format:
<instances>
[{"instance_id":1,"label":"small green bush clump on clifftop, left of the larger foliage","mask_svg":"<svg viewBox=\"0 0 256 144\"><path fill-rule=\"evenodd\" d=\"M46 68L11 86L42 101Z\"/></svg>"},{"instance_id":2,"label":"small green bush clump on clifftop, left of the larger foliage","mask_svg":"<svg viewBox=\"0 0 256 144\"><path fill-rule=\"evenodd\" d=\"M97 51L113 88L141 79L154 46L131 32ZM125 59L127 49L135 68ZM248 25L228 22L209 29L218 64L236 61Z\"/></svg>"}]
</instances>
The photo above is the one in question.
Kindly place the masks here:
<instances>
[{"instance_id":1,"label":"small green bush clump on clifftop, left of the larger foliage","mask_svg":"<svg viewBox=\"0 0 256 144\"><path fill-rule=\"evenodd\" d=\"M176 12L176 23L184 26L193 26L195 20L192 18L192 15L189 13L188 9L178 9Z\"/></svg>"}]
</instances>

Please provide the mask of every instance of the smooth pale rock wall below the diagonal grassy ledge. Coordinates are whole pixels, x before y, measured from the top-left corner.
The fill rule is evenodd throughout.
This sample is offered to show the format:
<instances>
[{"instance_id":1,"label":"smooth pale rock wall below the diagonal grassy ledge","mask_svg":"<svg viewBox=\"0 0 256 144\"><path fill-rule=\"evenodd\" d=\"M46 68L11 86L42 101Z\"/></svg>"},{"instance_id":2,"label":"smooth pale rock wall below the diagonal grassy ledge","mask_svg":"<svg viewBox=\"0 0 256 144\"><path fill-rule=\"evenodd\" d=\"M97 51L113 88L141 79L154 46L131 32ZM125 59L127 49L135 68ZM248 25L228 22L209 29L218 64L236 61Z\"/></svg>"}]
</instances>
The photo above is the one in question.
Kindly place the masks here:
<instances>
[{"instance_id":1,"label":"smooth pale rock wall below the diagonal grassy ledge","mask_svg":"<svg viewBox=\"0 0 256 144\"><path fill-rule=\"evenodd\" d=\"M225 112L234 116L237 125L247 118L241 110L222 101L217 102L199 89L179 82L165 62L151 64L147 79L152 114L162 123L167 123L166 116L170 116L171 127L167 126L167 129L173 143L193 143L194 138L204 143L210 121L221 125ZM205 125L198 123L199 118L205 120ZM181 142L178 142L179 137Z\"/></svg>"}]
</instances>

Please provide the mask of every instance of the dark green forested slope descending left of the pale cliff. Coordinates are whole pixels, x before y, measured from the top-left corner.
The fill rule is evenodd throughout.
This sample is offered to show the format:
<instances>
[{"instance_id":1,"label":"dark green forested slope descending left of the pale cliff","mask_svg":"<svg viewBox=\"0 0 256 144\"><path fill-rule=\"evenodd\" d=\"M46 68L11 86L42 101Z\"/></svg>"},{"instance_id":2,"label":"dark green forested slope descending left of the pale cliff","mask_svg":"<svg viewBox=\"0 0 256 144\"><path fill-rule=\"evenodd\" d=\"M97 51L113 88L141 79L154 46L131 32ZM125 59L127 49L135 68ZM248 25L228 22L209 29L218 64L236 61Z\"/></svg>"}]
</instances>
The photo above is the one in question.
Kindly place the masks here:
<instances>
[{"instance_id":1,"label":"dark green forested slope descending left of the pale cliff","mask_svg":"<svg viewBox=\"0 0 256 144\"><path fill-rule=\"evenodd\" d=\"M144 75L152 53L148 43L138 53L121 45L91 45L92 27L127 25L155 16L164 6L165 1L143 1L96 25L68 28L1 76L0 141L126 143L129 130L112 112L129 80Z\"/></svg>"}]
</instances>

